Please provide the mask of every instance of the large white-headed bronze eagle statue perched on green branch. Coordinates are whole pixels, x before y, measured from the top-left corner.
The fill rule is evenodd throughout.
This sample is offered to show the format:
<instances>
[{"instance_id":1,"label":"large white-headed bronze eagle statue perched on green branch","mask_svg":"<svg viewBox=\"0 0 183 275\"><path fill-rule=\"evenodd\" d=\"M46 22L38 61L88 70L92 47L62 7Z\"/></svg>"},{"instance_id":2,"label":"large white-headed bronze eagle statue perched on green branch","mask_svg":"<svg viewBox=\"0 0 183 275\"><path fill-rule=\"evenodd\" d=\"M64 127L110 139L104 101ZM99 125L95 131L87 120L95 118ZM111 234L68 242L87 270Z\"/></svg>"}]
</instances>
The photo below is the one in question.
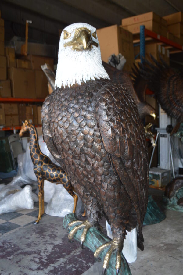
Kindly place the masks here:
<instances>
[{"instance_id":1,"label":"large white-headed bronze eagle statue perched on green branch","mask_svg":"<svg viewBox=\"0 0 183 275\"><path fill-rule=\"evenodd\" d=\"M103 268L105 272L115 251L118 274L127 230L137 228L138 247L144 249L148 154L137 106L123 86L109 79L91 25L75 23L62 31L55 87L41 109L43 138L67 171L87 218L71 230L69 239L84 228L82 246L89 228L105 216L113 240L106 244Z\"/></svg>"}]
</instances>

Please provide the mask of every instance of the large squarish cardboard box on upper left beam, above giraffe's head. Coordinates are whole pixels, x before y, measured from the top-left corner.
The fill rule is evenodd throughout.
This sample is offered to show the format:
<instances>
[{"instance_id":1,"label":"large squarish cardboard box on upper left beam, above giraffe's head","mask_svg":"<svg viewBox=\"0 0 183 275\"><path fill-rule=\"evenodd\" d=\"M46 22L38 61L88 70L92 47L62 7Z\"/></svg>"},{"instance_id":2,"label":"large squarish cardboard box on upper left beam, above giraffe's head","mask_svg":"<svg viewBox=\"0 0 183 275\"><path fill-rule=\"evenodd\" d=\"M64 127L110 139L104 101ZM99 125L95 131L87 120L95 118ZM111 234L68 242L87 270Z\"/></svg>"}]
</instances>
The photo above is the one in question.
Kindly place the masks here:
<instances>
[{"instance_id":1,"label":"large squarish cardboard box on upper left beam, above giraffe's head","mask_svg":"<svg viewBox=\"0 0 183 275\"><path fill-rule=\"evenodd\" d=\"M13 97L36 98L34 70L11 68L10 80Z\"/></svg>"}]
</instances>

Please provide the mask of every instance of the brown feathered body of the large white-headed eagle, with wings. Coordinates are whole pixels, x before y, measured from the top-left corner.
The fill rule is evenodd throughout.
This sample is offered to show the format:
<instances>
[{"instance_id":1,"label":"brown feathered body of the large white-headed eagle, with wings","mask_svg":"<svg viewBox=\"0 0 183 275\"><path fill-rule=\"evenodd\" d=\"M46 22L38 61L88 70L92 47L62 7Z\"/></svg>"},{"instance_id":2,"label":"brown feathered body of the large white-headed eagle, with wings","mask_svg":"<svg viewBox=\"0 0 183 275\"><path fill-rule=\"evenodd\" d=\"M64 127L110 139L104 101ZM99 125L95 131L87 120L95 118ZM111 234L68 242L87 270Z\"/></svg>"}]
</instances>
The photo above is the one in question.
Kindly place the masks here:
<instances>
[{"instance_id":1,"label":"brown feathered body of the large white-headed eagle, with wings","mask_svg":"<svg viewBox=\"0 0 183 275\"><path fill-rule=\"evenodd\" d=\"M98 223L104 215L116 237L137 227L143 249L148 155L131 95L104 79L57 88L45 99L41 118L44 141L67 171L88 220Z\"/></svg>"}]
</instances>

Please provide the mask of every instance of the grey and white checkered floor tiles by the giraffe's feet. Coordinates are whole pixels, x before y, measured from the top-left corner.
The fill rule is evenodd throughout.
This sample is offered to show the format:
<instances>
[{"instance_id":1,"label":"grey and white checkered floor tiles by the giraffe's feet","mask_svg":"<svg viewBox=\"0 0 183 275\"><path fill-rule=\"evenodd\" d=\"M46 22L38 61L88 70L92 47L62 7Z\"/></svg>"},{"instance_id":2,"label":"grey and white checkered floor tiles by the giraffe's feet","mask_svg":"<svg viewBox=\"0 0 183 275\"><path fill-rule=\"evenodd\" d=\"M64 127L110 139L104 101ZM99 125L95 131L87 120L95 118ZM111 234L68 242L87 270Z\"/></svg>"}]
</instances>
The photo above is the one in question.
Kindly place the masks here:
<instances>
[{"instance_id":1,"label":"grey and white checkered floor tiles by the giraffe's feet","mask_svg":"<svg viewBox=\"0 0 183 275\"><path fill-rule=\"evenodd\" d=\"M34 192L37 188L33 189ZM47 203L45 202L45 207ZM34 209L24 209L0 215L0 236L13 232L17 228L34 223L38 217L39 202L34 202ZM45 216L44 214L43 216ZM43 217L42 216L42 217Z\"/></svg>"}]
</instances>

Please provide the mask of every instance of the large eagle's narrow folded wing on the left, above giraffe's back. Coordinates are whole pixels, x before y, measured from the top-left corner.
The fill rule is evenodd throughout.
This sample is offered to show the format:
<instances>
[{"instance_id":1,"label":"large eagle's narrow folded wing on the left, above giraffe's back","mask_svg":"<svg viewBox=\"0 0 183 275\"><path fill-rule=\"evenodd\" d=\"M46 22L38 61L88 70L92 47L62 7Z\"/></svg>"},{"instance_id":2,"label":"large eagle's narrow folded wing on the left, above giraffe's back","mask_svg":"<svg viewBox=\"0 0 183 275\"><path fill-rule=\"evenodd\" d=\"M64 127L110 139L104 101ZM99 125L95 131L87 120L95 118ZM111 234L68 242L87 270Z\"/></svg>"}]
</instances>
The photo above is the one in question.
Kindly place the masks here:
<instances>
[{"instance_id":1,"label":"large eagle's narrow folded wing on the left, above giraffe's back","mask_svg":"<svg viewBox=\"0 0 183 275\"><path fill-rule=\"evenodd\" d=\"M52 94L48 95L45 98L45 101L43 102L42 108L41 108L41 121L42 121L42 134L43 134L43 140L45 141L48 150L52 153L52 156L58 161L58 159L61 158L61 155L59 154L57 147L54 143L52 133L54 131L51 131L50 126L50 112L52 108L49 108L49 106L52 104ZM54 108L54 106L53 106ZM54 123L52 123L52 127L54 127Z\"/></svg>"}]
</instances>

